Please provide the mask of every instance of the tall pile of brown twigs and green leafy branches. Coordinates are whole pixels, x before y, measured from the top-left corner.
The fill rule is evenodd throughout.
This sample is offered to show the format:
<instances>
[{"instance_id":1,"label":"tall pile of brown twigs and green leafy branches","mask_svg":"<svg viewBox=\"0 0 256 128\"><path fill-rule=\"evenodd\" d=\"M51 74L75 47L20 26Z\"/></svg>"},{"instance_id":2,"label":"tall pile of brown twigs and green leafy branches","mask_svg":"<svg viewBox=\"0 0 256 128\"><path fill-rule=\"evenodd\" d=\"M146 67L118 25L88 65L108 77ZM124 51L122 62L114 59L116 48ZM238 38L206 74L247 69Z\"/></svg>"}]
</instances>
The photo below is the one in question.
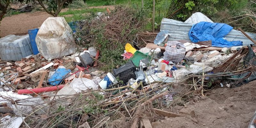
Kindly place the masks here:
<instances>
[{"instance_id":1,"label":"tall pile of brown twigs and green leafy branches","mask_svg":"<svg viewBox=\"0 0 256 128\"><path fill-rule=\"evenodd\" d=\"M94 46L99 50L99 66L108 65L106 70L111 71L125 63L121 56L124 46L126 43L136 44L137 34L143 31L145 23L143 11L129 6L116 6L115 10L92 15L91 19L79 22L79 29L74 36L79 38L77 45Z\"/></svg>"}]
</instances>

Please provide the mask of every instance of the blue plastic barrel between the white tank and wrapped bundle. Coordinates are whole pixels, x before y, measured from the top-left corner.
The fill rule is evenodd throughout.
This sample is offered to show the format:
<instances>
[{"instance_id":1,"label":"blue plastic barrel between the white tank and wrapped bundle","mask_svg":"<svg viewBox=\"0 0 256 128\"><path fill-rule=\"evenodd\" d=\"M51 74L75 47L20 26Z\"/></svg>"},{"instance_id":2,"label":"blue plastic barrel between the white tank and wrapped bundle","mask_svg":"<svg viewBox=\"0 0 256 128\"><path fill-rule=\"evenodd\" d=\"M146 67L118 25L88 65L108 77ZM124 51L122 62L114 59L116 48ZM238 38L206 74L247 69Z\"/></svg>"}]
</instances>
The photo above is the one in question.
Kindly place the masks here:
<instances>
[{"instance_id":1,"label":"blue plastic barrel between the white tank and wrapped bundle","mask_svg":"<svg viewBox=\"0 0 256 128\"><path fill-rule=\"evenodd\" d=\"M34 55L39 53L39 51L37 49L37 45L36 45L36 34L37 34L37 32L38 32L38 28L28 30L30 44L32 46L32 51L33 51Z\"/></svg>"}]
</instances>

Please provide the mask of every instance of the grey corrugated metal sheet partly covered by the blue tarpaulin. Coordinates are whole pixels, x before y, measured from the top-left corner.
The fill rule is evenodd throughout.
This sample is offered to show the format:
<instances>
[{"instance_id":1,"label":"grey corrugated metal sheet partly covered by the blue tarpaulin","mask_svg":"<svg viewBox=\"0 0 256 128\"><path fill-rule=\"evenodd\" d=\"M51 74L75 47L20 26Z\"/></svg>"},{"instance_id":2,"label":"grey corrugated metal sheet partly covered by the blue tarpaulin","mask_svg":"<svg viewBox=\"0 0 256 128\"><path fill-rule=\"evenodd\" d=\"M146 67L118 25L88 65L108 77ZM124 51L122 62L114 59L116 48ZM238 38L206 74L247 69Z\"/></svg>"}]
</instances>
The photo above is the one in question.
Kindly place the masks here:
<instances>
[{"instance_id":1,"label":"grey corrugated metal sheet partly covered by the blue tarpaulin","mask_svg":"<svg viewBox=\"0 0 256 128\"><path fill-rule=\"evenodd\" d=\"M172 19L166 19L163 18L161 22L160 31L168 31L171 36L169 36L168 41L173 40L188 40L190 41L188 37L188 31L193 26L191 23L184 23L177 20ZM252 39L256 40L256 34L248 33L246 32ZM227 36L225 36L225 39L228 41L243 41L243 45L249 45L254 44L251 40L249 40L246 36L244 36L240 31L238 30L231 30Z\"/></svg>"}]
</instances>

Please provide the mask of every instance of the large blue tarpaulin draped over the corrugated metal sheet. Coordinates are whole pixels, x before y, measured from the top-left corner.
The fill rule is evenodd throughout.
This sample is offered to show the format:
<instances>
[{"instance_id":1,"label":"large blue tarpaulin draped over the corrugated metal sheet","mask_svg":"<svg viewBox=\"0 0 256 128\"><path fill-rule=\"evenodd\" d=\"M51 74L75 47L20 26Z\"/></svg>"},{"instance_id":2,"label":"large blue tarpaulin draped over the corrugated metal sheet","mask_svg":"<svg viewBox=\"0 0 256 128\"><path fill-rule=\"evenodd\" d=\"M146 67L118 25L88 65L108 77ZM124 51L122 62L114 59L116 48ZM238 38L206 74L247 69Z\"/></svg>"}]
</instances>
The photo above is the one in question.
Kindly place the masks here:
<instances>
[{"instance_id":1,"label":"large blue tarpaulin draped over the corrugated metal sheet","mask_svg":"<svg viewBox=\"0 0 256 128\"><path fill-rule=\"evenodd\" d=\"M243 45L242 41L227 41L223 39L233 27L224 23L199 22L194 24L188 32L193 43L212 40L213 47L232 47Z\"/></svg>"}]
</instances>

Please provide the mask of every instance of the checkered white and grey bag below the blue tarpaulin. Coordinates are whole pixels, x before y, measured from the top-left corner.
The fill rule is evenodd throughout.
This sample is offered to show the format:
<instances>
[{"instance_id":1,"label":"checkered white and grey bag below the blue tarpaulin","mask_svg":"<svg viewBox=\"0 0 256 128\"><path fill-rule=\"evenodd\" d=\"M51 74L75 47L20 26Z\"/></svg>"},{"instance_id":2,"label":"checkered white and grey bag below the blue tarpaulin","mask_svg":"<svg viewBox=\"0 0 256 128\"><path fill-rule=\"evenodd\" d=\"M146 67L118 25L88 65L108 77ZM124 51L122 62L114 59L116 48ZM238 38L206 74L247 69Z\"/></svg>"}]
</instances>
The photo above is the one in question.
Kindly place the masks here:
<instances>
[{"instance_id":1,"label":"checkered white and grey bag below the blue tarpaulin","mask_svg":"<svg viewBox=\"0 0 256 128\"><path fill-rule=\"evenodd\" d=\"M164 60L172 61L173 63L180 62L185 56L186 50L184 44L178 41L169 41L165 47Z\"/></svg>"}]
</instances>

